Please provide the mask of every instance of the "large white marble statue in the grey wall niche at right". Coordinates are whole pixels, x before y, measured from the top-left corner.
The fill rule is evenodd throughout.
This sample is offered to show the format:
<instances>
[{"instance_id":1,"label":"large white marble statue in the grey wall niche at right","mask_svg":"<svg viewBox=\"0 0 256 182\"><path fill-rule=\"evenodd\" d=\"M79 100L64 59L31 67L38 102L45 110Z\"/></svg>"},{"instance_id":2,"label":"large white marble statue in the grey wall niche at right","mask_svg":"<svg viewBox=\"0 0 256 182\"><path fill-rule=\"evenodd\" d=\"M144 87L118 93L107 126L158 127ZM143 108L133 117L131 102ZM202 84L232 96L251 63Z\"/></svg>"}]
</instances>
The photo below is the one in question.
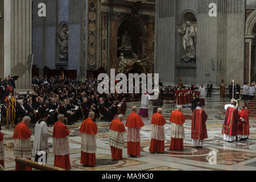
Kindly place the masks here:
<instances>
[{"instance_id":1,"label":"large white marble statue in the grey wall niche at right","mask_svg":"<svg viewBox=\"0 0 256 182\"><path fill-rule=\"evenodd\" d=\"M185 61L196 58L196 31L191 22L187 21L184 30L178 30L178 32L183 36L183 46L186 52L182 58Z\"/></svg>"}]
</instances>

